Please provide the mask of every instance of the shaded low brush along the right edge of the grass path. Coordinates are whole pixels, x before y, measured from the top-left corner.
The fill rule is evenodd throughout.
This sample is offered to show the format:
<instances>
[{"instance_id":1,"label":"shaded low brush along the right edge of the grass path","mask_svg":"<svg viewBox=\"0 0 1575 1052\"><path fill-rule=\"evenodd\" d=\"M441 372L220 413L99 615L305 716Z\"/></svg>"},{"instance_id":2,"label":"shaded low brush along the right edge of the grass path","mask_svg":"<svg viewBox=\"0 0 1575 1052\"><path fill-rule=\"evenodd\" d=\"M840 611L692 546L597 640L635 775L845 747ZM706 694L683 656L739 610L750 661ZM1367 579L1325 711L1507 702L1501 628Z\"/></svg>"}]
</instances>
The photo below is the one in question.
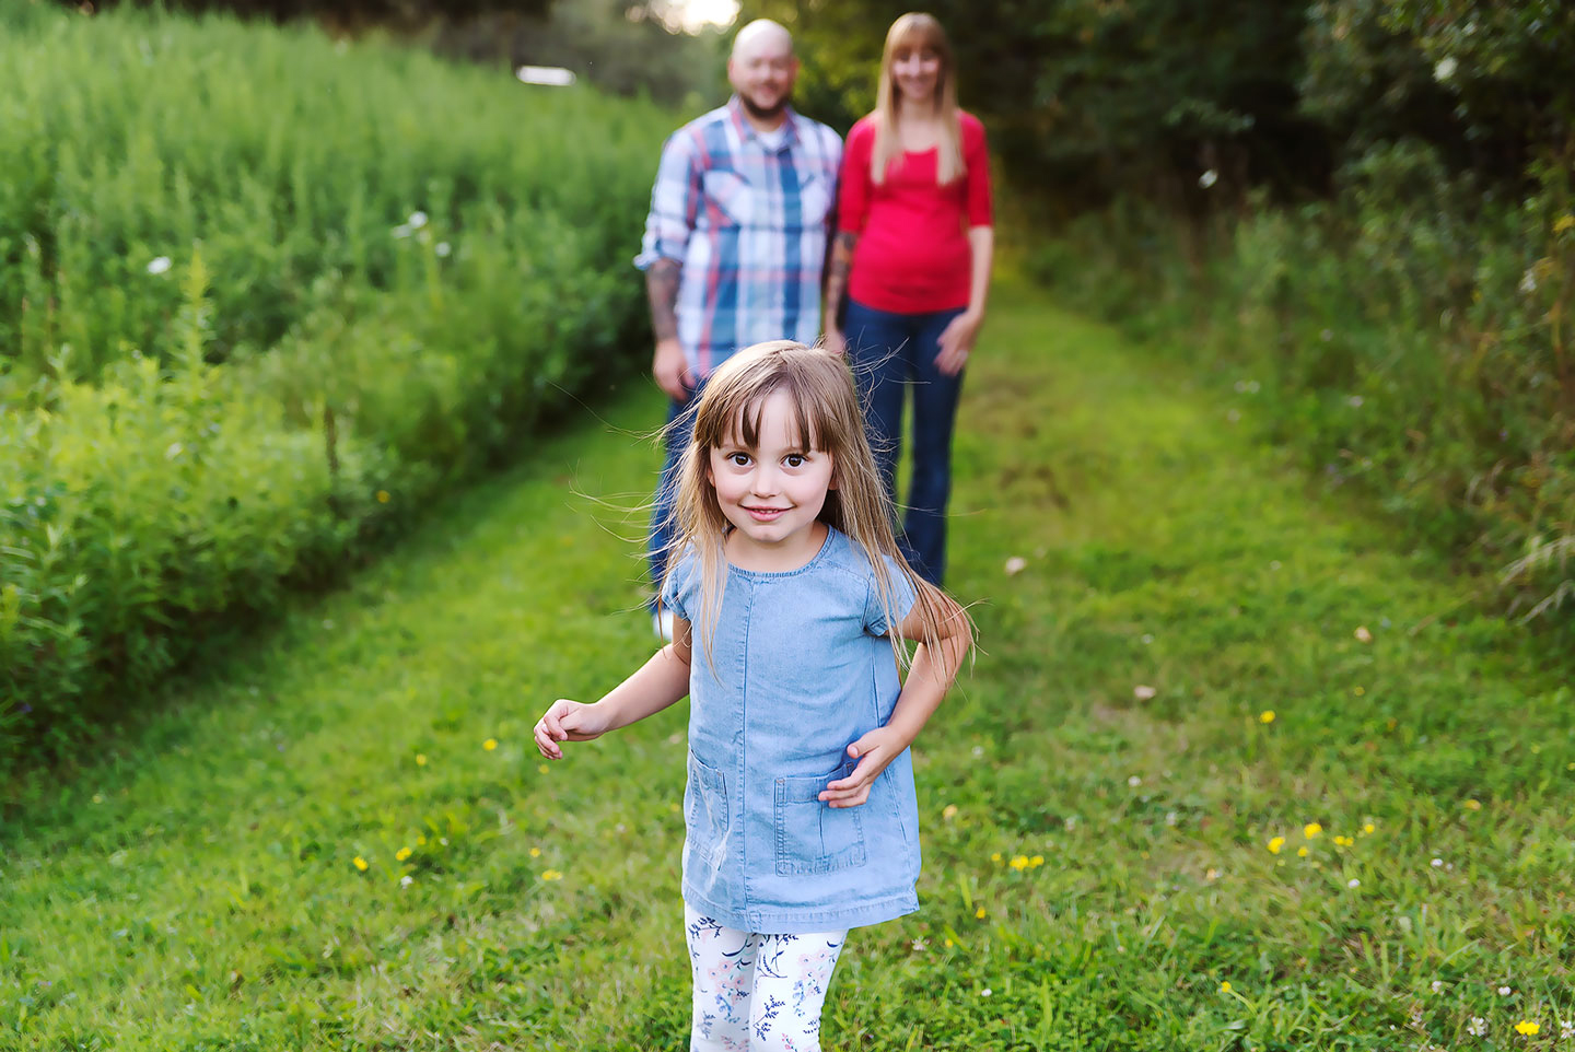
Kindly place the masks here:
<instances>
[{"instance_id":1,"label":"shaded low brush along the right edge of the grass path","mask_svg":"<svg viewBox=\"0 0 1575 1052\"><path fill-rule=\"evenodd\" d=\"M1328 485L1499 572L1515 614L1575 609L1575 195L1523 202L1425 146L1336 200L1189 224L1125 200L1041 249L1052 288L1216 370ZM1559 608L1566 613L1558 613Z\"/></svg>"}]
</instances>

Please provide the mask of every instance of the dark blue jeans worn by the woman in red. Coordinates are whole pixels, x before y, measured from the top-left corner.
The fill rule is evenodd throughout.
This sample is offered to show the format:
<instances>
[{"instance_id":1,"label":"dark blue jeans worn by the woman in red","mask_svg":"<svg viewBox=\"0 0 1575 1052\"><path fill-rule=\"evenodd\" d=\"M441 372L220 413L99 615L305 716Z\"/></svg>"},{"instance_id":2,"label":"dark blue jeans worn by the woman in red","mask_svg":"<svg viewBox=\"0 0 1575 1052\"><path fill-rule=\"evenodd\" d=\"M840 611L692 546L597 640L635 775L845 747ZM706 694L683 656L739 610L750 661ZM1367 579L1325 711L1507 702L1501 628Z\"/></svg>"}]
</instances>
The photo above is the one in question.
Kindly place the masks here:
<instances>
[{"instance_id":1,"label":"dark blue jeans worn by the woman in red","mask_svg":"<svg viewBox=\"0 0 1575 1052\"><path fill-rule=\"evenodd\" d=\"M914 474L898 546L926 581L940 584L947 572L947 501L951 496L951 430L962 394L962 373L936 369L940 332L956 310L893 313L847 302L843 332L852 359L865 427L876 466L896 501L896 460L902 449L902 398L914 392Z\"/></svg>"}]
</instances>

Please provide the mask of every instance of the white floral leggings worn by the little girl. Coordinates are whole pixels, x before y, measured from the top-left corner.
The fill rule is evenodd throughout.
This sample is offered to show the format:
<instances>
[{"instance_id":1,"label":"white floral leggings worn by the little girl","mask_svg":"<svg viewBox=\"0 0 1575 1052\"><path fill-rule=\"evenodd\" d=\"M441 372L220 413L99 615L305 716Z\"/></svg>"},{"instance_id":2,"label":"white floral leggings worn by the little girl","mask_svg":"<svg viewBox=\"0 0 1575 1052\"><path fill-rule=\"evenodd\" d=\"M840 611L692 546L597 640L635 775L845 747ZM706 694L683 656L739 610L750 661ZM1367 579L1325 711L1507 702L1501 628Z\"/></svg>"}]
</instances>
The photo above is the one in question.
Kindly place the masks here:
<instances>
[{"instance_id":1,"label":"white floral leggings worn by the little girl","mask_svg":"<svg viewBox=\"0 0 1575 1052\"><path fill-rule=\"evenodd\" d=\"M819 1052L821 1008L846 931L762 935L684 907L695 973L690 1052Z\"/></svg>"}]
</instances>

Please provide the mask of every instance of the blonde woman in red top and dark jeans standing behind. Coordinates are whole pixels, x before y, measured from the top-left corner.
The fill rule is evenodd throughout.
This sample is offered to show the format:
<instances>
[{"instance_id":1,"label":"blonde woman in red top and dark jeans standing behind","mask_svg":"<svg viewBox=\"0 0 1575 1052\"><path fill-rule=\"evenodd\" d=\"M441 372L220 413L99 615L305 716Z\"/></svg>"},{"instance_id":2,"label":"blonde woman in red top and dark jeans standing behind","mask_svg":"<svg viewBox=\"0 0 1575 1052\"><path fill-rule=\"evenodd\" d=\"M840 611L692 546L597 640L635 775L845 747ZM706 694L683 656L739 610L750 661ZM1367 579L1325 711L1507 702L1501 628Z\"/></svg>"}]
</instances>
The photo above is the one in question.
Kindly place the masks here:
<instances>
[{"instance_id":1,"label":"blonde woman in red top and dark jeans standing behind","mask_svg":"<svg viewBox=\"0 0 1575 1052\"><path fill-rule=\"evenodd\" d=\"M891 24L876 98L843 151L825 342L852 356L893 498L902 400L914 391L901 545L914 569L940 584L951 430L994 254L984 126L958 109L951 46L928 14Z\"/></svg>"}]
</instances>

